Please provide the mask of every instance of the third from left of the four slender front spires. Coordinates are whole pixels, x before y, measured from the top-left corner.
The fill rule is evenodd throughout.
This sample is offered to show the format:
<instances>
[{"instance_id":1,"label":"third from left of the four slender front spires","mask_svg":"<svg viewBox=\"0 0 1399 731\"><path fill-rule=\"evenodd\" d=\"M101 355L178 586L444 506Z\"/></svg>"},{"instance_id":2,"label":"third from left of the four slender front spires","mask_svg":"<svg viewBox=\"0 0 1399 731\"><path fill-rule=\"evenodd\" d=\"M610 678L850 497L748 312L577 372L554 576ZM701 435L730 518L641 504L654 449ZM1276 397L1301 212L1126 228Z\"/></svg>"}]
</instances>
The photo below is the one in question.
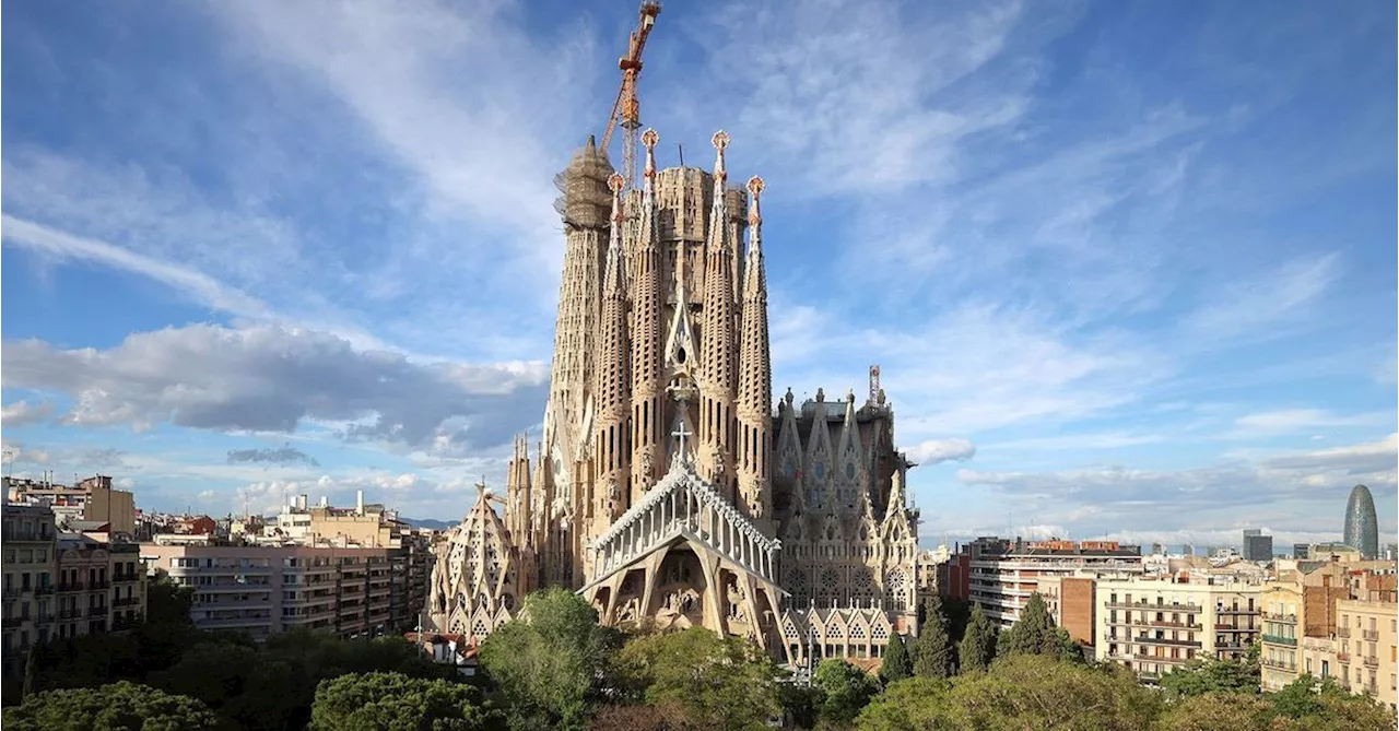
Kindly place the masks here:
<instances>
[{"instance_id":1,"label":"third from left of the four slender front spires","mask_svg":"<svg viewBox=\"0 0 1399 731\"><path fill-rule=\"evenodd\" d=\"M713 205L709 210L709 240L705 246L704 328L700 361L700 454L705 477L725 493L733 486L729 444L733 422L733 257L729 242L727 172L723 151L729 133L713 133Z\"/></svg>"}]
</instances>

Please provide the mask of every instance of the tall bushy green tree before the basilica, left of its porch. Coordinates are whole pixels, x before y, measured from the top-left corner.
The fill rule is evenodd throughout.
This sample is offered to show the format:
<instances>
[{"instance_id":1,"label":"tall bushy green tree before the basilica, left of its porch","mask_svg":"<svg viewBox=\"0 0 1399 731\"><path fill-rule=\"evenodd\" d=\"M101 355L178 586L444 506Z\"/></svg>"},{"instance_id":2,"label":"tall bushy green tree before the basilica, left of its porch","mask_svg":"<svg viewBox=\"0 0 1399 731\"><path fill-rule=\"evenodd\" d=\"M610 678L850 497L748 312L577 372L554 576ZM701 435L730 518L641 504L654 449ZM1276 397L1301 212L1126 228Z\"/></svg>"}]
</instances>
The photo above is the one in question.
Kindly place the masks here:
<instances>
[{"instance_id":1,"label":"tall bushy green tree before the basilica, left of its porch","mask_svg":"<svg viewBox=\"0 0 1399 731\"><path fill-rule=\"evenodd\" d=\"M513 728L583 728L618 639L582 597L550 588L481 643L480 663Z\"/></svg>"}]
</instances>

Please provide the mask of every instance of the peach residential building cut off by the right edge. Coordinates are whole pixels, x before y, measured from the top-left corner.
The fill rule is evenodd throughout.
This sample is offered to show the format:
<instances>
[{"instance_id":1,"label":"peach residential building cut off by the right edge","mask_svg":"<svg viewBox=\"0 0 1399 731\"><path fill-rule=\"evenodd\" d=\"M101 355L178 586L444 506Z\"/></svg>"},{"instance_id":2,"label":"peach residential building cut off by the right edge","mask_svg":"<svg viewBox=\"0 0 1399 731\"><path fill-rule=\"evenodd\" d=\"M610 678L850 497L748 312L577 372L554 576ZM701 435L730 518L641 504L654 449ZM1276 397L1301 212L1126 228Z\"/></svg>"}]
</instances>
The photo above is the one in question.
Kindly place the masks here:
<instances>
[{"instance_id":1,"label":"peach residential building cut off by the right edge","mask_svg":"<svg viewBox=\"0 0 1399 731\"><path fill-rule=\"evenodd\" d=\"M1340 683L1399 709L1399 602L1336 602L1336 661Z\"/></svg>"}]
</instances>

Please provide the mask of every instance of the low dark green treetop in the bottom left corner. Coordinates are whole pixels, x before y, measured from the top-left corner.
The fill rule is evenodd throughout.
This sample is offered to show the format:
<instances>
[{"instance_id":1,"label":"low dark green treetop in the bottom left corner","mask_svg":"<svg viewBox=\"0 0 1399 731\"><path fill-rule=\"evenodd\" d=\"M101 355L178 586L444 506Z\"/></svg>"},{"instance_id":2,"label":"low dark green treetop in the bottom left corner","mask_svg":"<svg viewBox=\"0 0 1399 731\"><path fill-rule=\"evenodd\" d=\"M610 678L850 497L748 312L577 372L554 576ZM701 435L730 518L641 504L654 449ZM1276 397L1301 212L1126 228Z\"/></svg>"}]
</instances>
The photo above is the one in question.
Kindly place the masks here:
<instances>
[{"instance_id":1,"label":"low dark green treetop in the bottom left corner","mask_svg":"<svg viewBox=\"0 0 1399 731\"><path fill-rule=\"evenodd\" d=\"M122 681L102 688L48 690L0 711L6 731L214 731L207 706Z\"/></svg>"}]
</instances>

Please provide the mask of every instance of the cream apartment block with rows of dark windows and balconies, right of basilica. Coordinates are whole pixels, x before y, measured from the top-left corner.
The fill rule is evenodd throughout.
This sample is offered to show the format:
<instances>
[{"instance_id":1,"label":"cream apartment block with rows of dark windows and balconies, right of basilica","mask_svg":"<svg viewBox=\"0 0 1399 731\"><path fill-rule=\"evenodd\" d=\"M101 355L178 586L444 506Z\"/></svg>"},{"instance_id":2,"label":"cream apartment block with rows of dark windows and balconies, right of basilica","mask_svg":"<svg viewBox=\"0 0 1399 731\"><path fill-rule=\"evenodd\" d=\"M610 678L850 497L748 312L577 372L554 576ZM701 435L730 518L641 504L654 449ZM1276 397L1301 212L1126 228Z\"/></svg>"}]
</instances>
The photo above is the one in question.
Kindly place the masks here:
<instances>
[{"instance_id":1,"label":"cream apartment block with rows of dark windows and balconies, right of basilica","mask_svg":"<svg viewBox=\"0 0 1399 731\"><path fill-rule=\"evenodd\" d=\"M1094 656L1144 681L1195 658L1235 660L1262 629L1262 586L1170 579L1097 581Z\"/></svg>"}]
</instances>

